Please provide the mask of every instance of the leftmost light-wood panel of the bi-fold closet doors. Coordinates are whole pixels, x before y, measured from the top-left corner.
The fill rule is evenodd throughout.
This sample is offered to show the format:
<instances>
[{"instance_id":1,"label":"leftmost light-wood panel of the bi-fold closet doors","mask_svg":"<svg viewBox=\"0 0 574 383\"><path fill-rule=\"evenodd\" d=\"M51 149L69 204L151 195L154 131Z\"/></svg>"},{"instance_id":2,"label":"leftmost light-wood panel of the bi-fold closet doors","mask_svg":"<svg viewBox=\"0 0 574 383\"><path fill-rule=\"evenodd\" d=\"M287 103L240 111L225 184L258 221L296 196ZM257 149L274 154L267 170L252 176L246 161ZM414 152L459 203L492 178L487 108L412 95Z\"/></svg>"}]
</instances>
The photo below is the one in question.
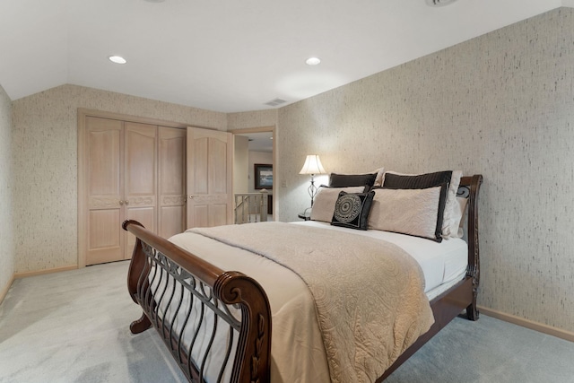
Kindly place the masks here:
<instances>
[{"instance_id":1,"label":"leftmost light-wood panel of the bi-fold closet doors","mask_svg":"<svg viewBox=\"0 0 574 383\"><path fill-rule=\"evenodd\" d=\"M83 171L87 199L86 265L123 259L123 123L108 118L85 120Z\"/></svg>"}]
</instances>

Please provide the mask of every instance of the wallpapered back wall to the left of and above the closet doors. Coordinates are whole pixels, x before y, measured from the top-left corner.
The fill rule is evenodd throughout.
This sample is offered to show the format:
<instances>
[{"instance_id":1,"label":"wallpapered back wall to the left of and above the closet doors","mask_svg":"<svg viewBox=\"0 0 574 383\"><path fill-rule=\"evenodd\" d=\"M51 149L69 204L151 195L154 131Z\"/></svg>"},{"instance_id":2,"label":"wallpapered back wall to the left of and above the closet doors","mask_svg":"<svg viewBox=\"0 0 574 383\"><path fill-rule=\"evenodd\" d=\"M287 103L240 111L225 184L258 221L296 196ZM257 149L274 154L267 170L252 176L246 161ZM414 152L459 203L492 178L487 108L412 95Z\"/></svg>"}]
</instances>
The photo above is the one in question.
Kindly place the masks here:
<instances>
[{"instance_id":1,"label":"wallpapered back wall to the left of and above the closet doors","mask_svg":"<svg viewBox=\"0 0 574 383\"><path fill-rule=\"evenodd\" d=\"M63 85L13 101L16 274L77 265L77 109L225 130L224 113Z\"/></svg>"}]
</instances>

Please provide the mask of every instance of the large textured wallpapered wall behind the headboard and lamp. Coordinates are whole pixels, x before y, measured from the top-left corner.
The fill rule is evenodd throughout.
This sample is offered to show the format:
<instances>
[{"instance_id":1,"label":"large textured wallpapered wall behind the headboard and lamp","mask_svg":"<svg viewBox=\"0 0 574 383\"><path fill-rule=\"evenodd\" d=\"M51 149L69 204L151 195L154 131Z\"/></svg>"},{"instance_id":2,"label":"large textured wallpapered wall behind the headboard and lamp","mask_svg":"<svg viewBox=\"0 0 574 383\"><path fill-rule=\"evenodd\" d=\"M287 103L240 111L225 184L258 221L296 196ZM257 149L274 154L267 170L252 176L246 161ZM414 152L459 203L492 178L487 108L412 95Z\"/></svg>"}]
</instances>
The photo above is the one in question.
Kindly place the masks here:
<instances>
[{"instance_id":1,"label":"large textured wallpapered wall behind the headboard and lamp","mask_svg":"<svg viewBox=\"0 0 574 383\"><path fill-rule=\"evenodd\" d=\"M282 221L328 171L482 173L479 304L574 332L574 10L495 30L279 110Z\"/></svg>"}]
</instances>

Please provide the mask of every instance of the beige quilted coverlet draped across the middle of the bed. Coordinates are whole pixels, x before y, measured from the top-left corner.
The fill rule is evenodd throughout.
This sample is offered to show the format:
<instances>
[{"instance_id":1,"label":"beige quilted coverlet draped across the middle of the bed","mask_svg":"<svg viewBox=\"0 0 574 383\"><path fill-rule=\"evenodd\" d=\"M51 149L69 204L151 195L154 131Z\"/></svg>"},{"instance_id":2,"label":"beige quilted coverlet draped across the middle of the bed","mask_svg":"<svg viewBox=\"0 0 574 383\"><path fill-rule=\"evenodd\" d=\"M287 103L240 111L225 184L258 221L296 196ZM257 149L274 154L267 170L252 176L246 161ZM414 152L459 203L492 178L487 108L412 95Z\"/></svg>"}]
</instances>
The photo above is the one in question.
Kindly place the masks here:
<instances>
[{"instance_id":1,"label":"beige quilted coverlet draped across the middle of the bed","mask_svg":"<svg viewBox=\"0 0 574 383\"><path fill-rule=\"evenodd\" d=\"M420 266L390 243L281 222L192 231L300 275L333 382L374 381L433 322Z\"/></svg>"}]
</instances>

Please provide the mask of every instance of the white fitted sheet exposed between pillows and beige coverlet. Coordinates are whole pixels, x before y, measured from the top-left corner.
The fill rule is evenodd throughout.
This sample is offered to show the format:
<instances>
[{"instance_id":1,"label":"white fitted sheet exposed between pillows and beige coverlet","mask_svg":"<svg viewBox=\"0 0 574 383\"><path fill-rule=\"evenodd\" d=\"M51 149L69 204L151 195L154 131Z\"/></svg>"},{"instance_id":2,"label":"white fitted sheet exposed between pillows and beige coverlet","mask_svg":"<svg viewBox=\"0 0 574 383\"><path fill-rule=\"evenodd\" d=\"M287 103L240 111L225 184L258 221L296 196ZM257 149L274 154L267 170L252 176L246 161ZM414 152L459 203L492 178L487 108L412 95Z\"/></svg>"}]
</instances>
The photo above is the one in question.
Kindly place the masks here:
<instances>
[{"instance_id":1,"label":"white fitted sheet exposed between pillows and beige coverlet","mask_svg":"<svg viewBox=\"0 0 574 383\"><path fill-rule=\"evenodd\" d=\"M305 221L292 222L295 224L324 229L349 231L328 222ZM357 234L384 239L403 248L413 257L422 268L424 274L424 292L430 296L431 290L443 283L458 281L463 278L468 264L468 245L465 240L459 238L443 239L435 242L431 239L423 239L390 231L355 231Z\"/></svg>"}]
</instances>

